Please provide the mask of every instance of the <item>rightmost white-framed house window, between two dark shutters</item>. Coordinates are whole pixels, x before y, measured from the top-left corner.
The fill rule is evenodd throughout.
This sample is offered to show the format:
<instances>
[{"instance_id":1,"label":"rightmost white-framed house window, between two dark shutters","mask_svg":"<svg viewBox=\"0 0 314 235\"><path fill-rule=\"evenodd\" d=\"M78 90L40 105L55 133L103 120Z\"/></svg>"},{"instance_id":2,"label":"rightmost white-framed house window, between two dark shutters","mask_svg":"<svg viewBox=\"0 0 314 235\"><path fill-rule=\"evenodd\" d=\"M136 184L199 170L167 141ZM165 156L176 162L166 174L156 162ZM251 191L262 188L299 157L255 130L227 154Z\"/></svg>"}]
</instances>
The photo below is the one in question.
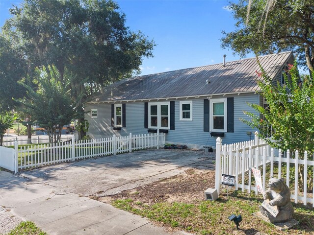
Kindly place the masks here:
<instances>
[{"instance_id":1,"label":"rightmost white-framed house window, between two dark shutters","mask_svg":"<svg viewBox=\"0 0 314 235\"><path fill-rule=\"evenodd\" d=\"M227 99L210 99L209 101L210 131L227 131Z\"/></svg>"}]
</instances>

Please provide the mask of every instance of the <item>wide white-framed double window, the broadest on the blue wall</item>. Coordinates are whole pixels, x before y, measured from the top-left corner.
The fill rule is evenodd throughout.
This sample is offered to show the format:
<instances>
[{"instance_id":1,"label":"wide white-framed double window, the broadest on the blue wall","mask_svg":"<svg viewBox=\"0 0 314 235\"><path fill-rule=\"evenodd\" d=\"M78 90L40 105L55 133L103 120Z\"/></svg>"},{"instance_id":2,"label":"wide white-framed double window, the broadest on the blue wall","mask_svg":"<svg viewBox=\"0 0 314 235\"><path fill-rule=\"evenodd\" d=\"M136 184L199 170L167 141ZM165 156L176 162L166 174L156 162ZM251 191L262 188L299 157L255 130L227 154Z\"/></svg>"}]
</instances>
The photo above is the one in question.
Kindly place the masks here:
<instances>
[{"instance_id":1,"label":"wide white-framed double window, the broadest on the blue wall","mask_svg":"<svg viewBox=\"0 0 314 235\"><path fill-rule=\"evenodd\" d=\"M149 103L148 127L155 129L169 129L169 102Z\"/></svg>"}]
</instances>

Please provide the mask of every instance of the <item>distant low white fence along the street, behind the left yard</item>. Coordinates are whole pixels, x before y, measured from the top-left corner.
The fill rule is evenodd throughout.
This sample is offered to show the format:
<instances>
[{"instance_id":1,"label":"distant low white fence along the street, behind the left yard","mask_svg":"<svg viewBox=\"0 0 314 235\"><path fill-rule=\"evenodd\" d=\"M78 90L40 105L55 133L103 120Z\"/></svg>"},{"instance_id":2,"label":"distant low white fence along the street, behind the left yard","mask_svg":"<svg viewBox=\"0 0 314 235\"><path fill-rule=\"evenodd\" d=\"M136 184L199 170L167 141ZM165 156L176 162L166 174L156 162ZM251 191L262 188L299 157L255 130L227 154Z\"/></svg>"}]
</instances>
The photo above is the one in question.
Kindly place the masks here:
<instances>
[{"instance_id":1,"label":"distant low white fence along the street, behind the left yard","mask_svg":"<svg viewBox=\"0 0 314 235\"><path fill-rule=\"evenodd\" d=\"M68 136L62 136L60 138L60 142L64 141L71 141L72 140L72 135ZM18 139L16 138L5 138L3 139L3 146L14 146L15 141L18 141L19 145L22 144L40 144L40 143L49 143L49 138L47 136L37 136L37 137L32 137L31 139L23 138L23 139Z\"/></svg>"}]
</instances>

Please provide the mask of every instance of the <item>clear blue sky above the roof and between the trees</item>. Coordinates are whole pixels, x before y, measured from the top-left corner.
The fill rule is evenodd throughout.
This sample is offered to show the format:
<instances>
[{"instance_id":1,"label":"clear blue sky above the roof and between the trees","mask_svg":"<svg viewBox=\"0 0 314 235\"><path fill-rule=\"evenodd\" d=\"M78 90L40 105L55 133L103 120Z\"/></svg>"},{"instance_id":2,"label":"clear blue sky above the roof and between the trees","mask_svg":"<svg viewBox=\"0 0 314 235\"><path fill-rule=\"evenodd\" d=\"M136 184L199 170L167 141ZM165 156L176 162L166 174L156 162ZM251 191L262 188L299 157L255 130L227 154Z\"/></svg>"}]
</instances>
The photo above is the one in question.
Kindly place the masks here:
<instances>
[{"instance_id":1,"label":"clear blue sky above the roof and between the trees","mask_svg":"<svg viewBox=\"0 0 314 235\"><path fill-rule=\"evenodd\" d=\"M9 8L21 0L0 0L0 26L10 18ZM140 30L157 46L153 58L144 58L141 74L200 67L239 59L222 49L222 31L235 29L227 0L117 0L126 25ZM247 57L253 57L253 54Z\"/></svg>"}]
</instances>

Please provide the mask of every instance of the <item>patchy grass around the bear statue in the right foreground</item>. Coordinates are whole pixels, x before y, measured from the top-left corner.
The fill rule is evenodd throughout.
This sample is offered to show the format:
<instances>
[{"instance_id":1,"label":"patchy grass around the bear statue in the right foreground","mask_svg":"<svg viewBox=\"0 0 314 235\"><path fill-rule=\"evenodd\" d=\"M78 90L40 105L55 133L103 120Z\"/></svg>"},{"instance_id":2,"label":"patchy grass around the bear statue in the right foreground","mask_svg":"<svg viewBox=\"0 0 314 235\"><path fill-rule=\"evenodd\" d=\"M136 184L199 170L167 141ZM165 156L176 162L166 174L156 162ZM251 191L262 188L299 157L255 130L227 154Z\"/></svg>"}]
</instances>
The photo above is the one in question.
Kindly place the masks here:
<instances>
[{"instance_id":1,"label":"patchy grass around the bear statue in the right foreground","mask_svg":"<svg viewBox=\"0 0 314 235\"><path fill-rule=\"evenodd\" d=\"M240 223L242 231L236 234L285 234L273 228L273 225L260 221L252 215L259 210L262 197L253 195L250 199L248 193L233 191L230 196L220 197L217 201L195 201L193 203L161 202L147 204L131 199L114 200L112 205L116 208L129 211L150 220L162 223L167 227L179 228L199 235L235 234L235 224L228 220L232 213L241 214ZM300 225L289 231L289 234L313 234L314 210L310 207L294 205L294 218ZM258 231L256 230L258 229ZM242 233L243 232L243 233Z\"/></svg>"}]
</instances>

